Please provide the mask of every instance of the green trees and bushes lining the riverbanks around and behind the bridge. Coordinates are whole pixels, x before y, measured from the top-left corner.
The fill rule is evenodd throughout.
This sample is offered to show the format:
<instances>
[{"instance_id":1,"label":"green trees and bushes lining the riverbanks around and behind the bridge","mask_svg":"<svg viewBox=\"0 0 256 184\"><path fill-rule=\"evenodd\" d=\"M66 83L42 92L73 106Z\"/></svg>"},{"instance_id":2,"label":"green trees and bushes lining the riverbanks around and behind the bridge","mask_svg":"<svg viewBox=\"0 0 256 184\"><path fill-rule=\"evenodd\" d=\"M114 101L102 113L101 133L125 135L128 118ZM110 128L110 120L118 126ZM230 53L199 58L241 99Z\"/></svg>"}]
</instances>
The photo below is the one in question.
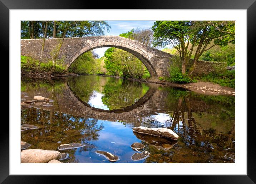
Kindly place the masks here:
<instances>
[{"instance_id":1,"label":"green trees and bushes lining the riverbanks around and behind the bridge","mask_svg":"<svg viewBox=\"0 0 256 184\"><path fill-rule=\"evenodd\" d=\"M21 38L30 39L103 35L104 27L111 29L106 21L21 21L21 23ZM169 68L170 76L160 76L158 78L160 81L181 84L209 81L235 88L235 71L222 70L207 75L193 75L198 60L224 61L227 66L235 66L234 21L155 21L152 29L132 29L119 36L140 41L151 47L172 45L172 48L164 48L162 51L177 56L177 61L174 61ZM43 49L44 44L42 51ZM56 51L55 58L44 62L21 56L21 71L30 75L32 73L49 76L67 75L70 72L79 75L98 74L144 80L150 78L147 68L137 57L118 48L108 48L101 58L93 51L86 52L68 69L62 65L61 60L56 60L57 55Z\"/></svg>"}]
</instances>

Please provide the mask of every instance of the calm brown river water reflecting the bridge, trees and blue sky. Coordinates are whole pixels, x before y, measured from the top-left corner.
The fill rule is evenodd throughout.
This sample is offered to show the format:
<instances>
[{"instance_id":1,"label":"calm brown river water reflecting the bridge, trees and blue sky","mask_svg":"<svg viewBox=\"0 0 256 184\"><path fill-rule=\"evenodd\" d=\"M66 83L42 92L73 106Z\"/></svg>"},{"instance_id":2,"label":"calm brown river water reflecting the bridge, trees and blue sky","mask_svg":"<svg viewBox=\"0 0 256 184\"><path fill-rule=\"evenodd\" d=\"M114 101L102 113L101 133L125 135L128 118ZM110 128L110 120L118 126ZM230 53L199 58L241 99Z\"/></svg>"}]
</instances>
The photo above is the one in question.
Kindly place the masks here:
<instances>
[{"instance_id":1,"label":"calm brown river water reflecting the bridge, trees and blue sky","mask_svg":"<svg viewBox=\"0 0 256 184\"><path fill-rule=\"evenodd\" d=\"M68 150L63 163L235 163L235 96L206 96L182 88L103 76L21 80L21 102L40 95L52 106L21 108L21 131L28 149L58 150L60 144L85 143ZM134 127L165 127L177 141L134 133ZM133 160L131 144L145 145L149 157Z\"/></svg>"}]
</instances>

